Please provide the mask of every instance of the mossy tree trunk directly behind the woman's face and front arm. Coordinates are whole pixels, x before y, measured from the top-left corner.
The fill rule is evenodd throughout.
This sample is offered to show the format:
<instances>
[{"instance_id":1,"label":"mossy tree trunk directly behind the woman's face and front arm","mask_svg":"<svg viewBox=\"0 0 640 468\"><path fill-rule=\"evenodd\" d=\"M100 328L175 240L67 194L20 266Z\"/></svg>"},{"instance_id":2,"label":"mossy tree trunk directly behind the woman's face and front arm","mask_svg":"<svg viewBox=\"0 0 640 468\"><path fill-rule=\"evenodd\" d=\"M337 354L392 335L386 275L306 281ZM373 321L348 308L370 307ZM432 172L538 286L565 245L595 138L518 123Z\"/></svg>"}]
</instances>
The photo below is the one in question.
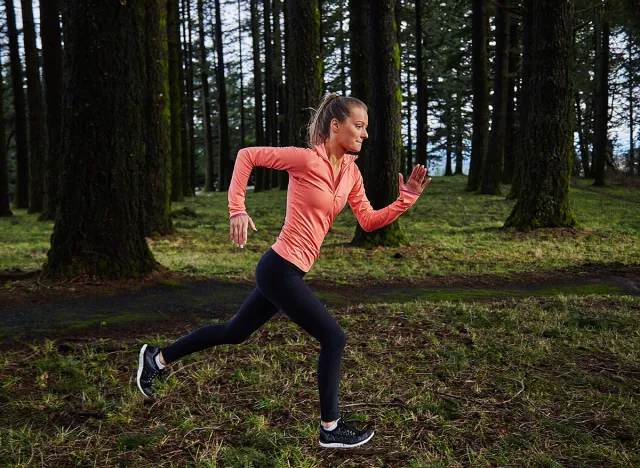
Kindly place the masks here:
<instances>
[{"instance_id":1,"label":"mossy tree trunk directly behind the woman's face and front arm","mask_svg":"<svg viewBox=\"0 0 640 468\"><path fill-rule=\"evenodd\" d=\"M394 0L367 0L371 76L371 147L362 174L373 209L381 209L398 198L398 172L402 150L401 107L398 68L400 57L395 33ZM375 34L373 34L375 32ZM373 248L406 244L398 220L372 232L359 230L353 244Z\"/></svg>"}]
</instances>

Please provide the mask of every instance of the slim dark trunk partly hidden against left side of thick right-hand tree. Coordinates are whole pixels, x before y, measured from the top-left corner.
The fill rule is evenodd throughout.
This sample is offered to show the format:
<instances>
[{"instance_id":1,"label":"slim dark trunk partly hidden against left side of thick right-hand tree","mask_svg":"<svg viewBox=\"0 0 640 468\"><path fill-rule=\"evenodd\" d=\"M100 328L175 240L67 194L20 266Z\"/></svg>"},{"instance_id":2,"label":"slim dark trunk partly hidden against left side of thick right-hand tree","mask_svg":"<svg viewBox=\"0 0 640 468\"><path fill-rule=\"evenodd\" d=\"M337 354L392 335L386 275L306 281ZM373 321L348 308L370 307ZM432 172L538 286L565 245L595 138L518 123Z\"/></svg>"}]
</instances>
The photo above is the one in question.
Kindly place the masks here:
<instances>
[{"instance_id":1,"label":"slim dark trunk partly hidden against left side of thick right-hand tree","mask_svg":"<svg viewBox=\"0 0 640 468\"><path fill-rule=\"evenodd\" d=\"M524 152L523 141L528 132L525 128L526 106L529 102L526 97L530 93L529 75L531 73L531 47L533 41L533 0L523 0L522 2L522 83L520 85L520 98L518 100L518 140L514 149L514 176L511 183L511 190L507 195L508 200L514 200L520 196L522 190L522 167L528 155Z\"/></svg>"}]
</instances>

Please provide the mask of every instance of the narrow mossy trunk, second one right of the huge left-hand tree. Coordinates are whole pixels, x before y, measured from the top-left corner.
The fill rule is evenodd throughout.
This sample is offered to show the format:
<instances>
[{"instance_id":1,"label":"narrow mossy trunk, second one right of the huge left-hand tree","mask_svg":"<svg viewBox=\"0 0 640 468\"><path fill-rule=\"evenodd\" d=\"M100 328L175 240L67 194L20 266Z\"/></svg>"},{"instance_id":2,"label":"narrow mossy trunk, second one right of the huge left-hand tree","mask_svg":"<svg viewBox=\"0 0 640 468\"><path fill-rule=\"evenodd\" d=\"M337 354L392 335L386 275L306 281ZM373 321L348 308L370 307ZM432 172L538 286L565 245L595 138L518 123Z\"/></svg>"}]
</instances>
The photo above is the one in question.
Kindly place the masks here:
<instances>
[{"instance_id":1,"label":"narrow mossy trunk, second one right of the huge left-hand tree","mask_svg":"<svg viewBox=\"0 0 640 468\"><path fill-rule=\"evenodd\" d=\"M178 0L167 0L169 98L171 100L171 200L184 200L182 188L182 95L180 94L180 15Z\"/></svg>"}]
</instances>

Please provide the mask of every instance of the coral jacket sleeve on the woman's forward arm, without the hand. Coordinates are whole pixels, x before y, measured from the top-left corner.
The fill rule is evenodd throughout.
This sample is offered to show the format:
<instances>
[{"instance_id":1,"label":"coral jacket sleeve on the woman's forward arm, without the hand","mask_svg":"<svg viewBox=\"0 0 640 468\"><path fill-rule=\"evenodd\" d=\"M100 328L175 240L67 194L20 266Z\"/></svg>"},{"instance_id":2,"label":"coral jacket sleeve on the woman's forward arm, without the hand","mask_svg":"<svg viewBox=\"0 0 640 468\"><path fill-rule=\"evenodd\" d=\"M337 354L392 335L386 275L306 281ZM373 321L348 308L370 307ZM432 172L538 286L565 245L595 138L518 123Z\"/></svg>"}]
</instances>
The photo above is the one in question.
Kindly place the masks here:
<instances>
[{"instance_id":1,"label":"coral jacket sleeve on the woman's forward arm, without the hand","mask_svg":"<svg viewBox=\"0 0 640 468\"><path fill-rule=\"evenodd\" d=\"M400 195L396 201L381 210L374 210L365 194L362 174L357 166L356 170L358 171L356 181L349 193L349 206L356 215L356 219L358 223L360 223L360 226L362 226L362 229L367 232L375 231L394 222L402 213L407 211L420 196L419 193L400 189Z\"/></svg>"}]
</instances>

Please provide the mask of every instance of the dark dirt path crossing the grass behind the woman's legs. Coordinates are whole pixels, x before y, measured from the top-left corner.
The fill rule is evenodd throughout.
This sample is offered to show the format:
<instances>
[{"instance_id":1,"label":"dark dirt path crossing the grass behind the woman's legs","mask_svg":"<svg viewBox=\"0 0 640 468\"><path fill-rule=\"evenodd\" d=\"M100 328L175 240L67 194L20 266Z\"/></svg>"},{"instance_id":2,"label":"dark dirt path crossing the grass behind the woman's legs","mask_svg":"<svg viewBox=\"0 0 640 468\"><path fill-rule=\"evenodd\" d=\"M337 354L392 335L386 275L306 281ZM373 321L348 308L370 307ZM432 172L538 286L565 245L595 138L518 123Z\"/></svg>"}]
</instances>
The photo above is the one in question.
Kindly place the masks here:
<instances>
[{"instance_id":1,"label":"dark dirt path crossing the grass behind the woman's legs","mask_svg":"<svg viewBox=\"0 0 640 468\"><path fill-rule=\"evenodd\" d=\"M558 294L640 295L640 266L583 265L581 267L512 275L455 276L361 286L336 286L309 281L330 308L361 303L414 300L496 300ZM214 279L175 281L121 292L97 291L69 298L31 294L19 301L0 302L0 340L106 334L142 328L142 333L169 325L231 317L253 285ZM144 325L143 325L144 324ZM149 328L149 324L158 325Z\"/></svg>"}]
</instances>

